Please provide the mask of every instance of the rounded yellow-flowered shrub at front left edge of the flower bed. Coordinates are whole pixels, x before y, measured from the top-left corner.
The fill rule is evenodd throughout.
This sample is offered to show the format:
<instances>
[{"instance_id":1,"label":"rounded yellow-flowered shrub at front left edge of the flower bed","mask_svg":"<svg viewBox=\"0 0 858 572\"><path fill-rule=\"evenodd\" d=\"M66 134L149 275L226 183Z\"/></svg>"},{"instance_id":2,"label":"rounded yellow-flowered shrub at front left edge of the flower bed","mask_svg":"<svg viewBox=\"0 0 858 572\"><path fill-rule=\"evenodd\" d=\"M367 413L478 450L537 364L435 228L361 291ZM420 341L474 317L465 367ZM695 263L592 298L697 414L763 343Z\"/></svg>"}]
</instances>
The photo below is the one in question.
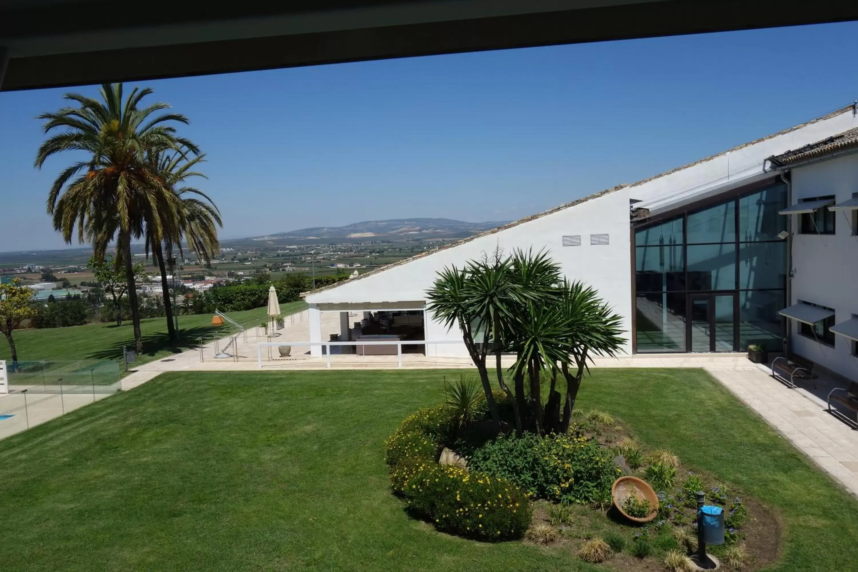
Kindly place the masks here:
<instances>
[{"instance_id":1,"label":"rounded yellow-flowered shrub at front left edge of the flower bed","mask_svg":"<svg viewBox=\"0 0 858 572\"><path fill-rule=\"evenodd\" d=\"M530 525L527 495L504 479L422 464L402 485L408 508L438 530L487 540L519 539Z\"/></svg>"}]
</instances>

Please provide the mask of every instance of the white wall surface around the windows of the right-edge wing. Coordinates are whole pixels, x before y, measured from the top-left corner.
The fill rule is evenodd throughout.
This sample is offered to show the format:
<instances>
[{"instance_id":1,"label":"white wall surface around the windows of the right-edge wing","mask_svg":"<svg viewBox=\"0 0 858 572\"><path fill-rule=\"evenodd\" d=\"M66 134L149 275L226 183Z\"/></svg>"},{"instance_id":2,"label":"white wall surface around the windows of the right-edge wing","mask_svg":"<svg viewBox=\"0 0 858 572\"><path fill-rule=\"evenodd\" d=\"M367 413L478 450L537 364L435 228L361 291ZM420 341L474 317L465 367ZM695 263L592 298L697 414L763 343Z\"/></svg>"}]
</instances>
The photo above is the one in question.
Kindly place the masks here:
<instances>
[{"instance_id":1,"label":"white wall surface around the windows of the right-edge wing","mask_svg":"<svg viewBox=\"0 0 858 572\"><path fill-rule=\"evenodd\" d=\"M792 171L792 202L811 196L837 196L837 202L858 192L858 155L800 166ZM845 322L858 314L858 237L849 221L837 213L837 234L799 234L799 216L792 215L793 268L792 301L813 302L834 308L836 322ZM793 350L842 376L858 380L858 358L851 355L851 343L835 336L835 347L820 346L816 340L798 333L792 320Z\"/></svg>"}]
</instances>

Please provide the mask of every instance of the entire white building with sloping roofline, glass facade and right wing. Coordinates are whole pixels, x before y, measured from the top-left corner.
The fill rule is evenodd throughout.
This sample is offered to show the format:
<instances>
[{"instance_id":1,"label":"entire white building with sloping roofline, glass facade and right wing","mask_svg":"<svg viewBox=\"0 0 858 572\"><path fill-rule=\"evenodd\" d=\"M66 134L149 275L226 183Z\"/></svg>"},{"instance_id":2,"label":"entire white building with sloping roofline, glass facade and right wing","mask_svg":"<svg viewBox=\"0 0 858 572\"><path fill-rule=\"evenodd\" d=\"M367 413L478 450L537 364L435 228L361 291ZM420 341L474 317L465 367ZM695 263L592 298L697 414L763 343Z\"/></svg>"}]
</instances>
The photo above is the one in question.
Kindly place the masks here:
<instances>
[{"instance_id":1,"label":"entire white building with sloping roofline, glass facade and right wing","mask_svg":"<svg viewBox=\"0 0 858 572\"><path fill-rule=\"evenodd\" d=\"M566 277L595 286L623 316L625 352L740 352L757 343L773 352L799 352L858 379L855 346L845 337L858 323L849 322L858 316L858 236L849 206L858 191L858 135L849 131L858 127L856 111L849 105L308 292L311 341L323 341L320 313L328 311L341 312L341 340L391 334L461 341L457 328L448 331L426 311L426 290L438 271L497 248L545 248ZM789 214L790 207L812 198L810 214ZM845 219L827 210L837 207ZM819 233L803 230L808 216L815 217ZM840 217L836 226L829 226L832 216ZM788 328L780 312L799 302L834 315ZM360 328L349 323L349 312L362 313ZM848 323L838 330L843 322ZM819 334L813 337L808 328ZM832 341L838 331L842 339ZM467 355L463 344L417 350Z\"/></svg>"}]
</instances>

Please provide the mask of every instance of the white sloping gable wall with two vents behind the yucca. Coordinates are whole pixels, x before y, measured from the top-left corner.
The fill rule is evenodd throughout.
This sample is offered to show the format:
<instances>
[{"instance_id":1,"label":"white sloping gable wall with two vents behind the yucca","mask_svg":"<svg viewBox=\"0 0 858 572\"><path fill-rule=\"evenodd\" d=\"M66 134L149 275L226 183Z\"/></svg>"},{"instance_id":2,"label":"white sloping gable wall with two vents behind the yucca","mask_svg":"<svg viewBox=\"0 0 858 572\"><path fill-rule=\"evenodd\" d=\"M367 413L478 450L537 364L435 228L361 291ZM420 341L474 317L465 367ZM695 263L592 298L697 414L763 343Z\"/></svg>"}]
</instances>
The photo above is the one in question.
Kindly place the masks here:
<instances>
[{"instance_id":1,"label":"white sloping gable wall with two vents behind the yucca","mask_svg":"<svg viewBox=\"0 0 858 572\"><path fill-rule=\"evenodd\" d=\"M581 235L581 246L562 246L564 235ZM608 234L610 244L589 244L590 234ZM332 302L384 302L396 307L397 301L425 300L439 270L450 264L490 255L499 247L505 252L515 248L546 248L559 262L565 276L594 286L601 297L624 317L631 353L631 251L629 240L629 194L626 189L579 203L556 213L524 222L501 232L475 238L453 248L389 268L360 280L349 281L323 292L307 296L310 304ZM461 334L447 331L427 316L427 340L461 340ZM428 352L433 354L432 347ZM438 355L467 356L464 346L438 346Z\"/></svg>"}]
</instances>

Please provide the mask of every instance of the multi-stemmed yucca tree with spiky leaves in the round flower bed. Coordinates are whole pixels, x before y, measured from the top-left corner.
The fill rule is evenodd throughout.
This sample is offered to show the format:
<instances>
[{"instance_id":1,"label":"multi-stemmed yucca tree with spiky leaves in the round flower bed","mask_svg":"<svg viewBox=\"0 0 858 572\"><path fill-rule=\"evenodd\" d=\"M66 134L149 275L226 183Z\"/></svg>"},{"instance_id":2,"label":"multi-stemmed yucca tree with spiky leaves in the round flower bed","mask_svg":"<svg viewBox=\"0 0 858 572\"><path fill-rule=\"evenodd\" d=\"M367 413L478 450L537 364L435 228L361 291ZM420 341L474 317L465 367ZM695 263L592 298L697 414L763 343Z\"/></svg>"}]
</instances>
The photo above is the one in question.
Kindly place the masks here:
<instances>
[{"instance_id":1,"label":"multi-stemmed yucca tree with spiky leaves in the round flower bed","mask_svg":"<svg viewBox=\"0 0 858 572\"><path fill-rule=\"evenodd\" d=\"M427 309L448 328L457 324L462 329L484 388L486 348L491 346L498 385L511 400L519 432L568 431L588 361L594 355L613 356L623 344L621 318L594 289L562 279L559 265L544 250L516 250L507 257L496 251L491 258L468 262L462 270L444 268L427 298ZM516 355L509 370L501 364L504 353ZM543 404L545 373L551 383ZM513 379L514 393L507 375ZM561 375L566 381L562 418L556 388Z\"/></svg>"}]
</instances>

